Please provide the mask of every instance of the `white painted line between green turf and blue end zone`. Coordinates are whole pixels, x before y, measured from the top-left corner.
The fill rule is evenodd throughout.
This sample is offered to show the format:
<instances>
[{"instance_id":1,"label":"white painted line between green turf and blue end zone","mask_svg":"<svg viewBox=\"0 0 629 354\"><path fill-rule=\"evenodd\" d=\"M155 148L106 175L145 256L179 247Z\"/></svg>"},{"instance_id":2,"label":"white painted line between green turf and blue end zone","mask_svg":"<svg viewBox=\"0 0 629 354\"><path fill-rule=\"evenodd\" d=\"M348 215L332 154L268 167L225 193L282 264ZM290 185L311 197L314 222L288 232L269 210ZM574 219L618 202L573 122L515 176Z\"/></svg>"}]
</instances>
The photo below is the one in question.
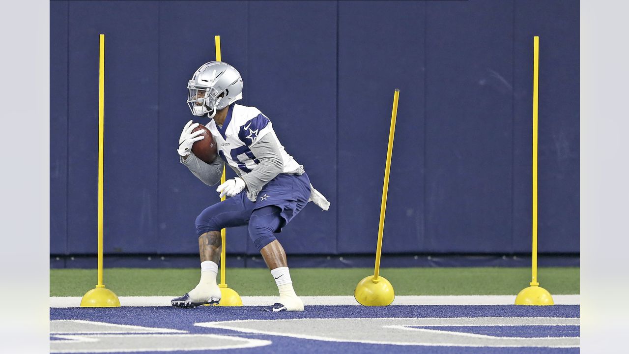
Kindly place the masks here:
<instances>
[{"instance_id":1,"label":"white painted line between green turf and blue end zone","mask_svg":"<svg viewBox=\"0 0 629 354\"><path fill-rule=\"evenodd\" d=\"M173 296L121 296L121 306L170 306ZM555 305L579 305L579 295L553 295ZM304 305L359 305L353 296L302 296ZM270 305L276 296L243 296L245 306ZM396 296L392 305L513 305L515 295ZM80 296L50 297L50 307L79 307Z\"/></svg>"}]
</instances>

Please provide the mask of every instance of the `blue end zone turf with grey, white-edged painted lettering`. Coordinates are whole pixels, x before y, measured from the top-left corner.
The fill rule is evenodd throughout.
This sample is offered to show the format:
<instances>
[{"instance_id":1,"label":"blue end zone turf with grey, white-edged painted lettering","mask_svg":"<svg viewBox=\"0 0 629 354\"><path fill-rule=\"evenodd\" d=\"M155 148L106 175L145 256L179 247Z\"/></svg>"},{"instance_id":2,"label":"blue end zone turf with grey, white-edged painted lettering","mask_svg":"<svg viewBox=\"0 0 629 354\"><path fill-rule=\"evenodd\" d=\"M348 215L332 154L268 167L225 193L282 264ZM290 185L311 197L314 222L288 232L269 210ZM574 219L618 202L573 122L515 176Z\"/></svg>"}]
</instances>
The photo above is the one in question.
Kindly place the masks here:
<instances>
[{"instance_id":1,"label":"blue end zone turf with grey, white-edged painted lettering","mask_svg":"<svg viewBox=\"0 0 629 354\"><path fill-rule=\"evenodd\" d=\"M189 334L221 334L233 338L245 338L243 341L262 340L251 344L250 348L236 348L230 352L238 353L577 353L579 336L579 306L578 305L554 305L548 307L528 307L515 305L491 305L491 306L389 306L389 307L362 307L362 306L308 306L304 312L261 312L261 307L197 307L194 309L177 309L172 307L118 307L108 309L97 308L53 308L50 309L50 319L54 320L86 320L110 324L125 324L142 326L145 328L178 329ZM460 317L465 317L461 319ZM472 317L471 319L469 317ZM499 317L494 320L493 317ZM541 317L541 318L540 318ZM333 321L326 319L335 319ZM352 320L364 319L364 320ZM374 319L374 320L370 320ZM237 321L240 320L240 321ZM258 320L258 321L244 321ZM262 321L260 321L262 320ZM265 320L284 320L276 323ZM286 321L291 320L291 321ZM218 324L220 321L237 321ZM414 321L423 321L420 325ZM426 321L435 321L426 324ZM464 321L462 324L452 324L452 321ZM466 323L470 322L471 323ZM487 321L490 323L487 324ZM492 324L496 321L495 324ZM506 321L511 324L501 323ZM539 323L520 323L521 321L539 321ZM382 327L384 324L389 325ZM284 327L281 326L284 323ZM369 327L369 323L377 326ZM196 325L195 324L201 324ZM286 326L289 324L289 326ZM299 327L303 325L304 327ZM78 331L85 328L81 323ZM237 330L227 329L226 327ZM338 326L334 331L333 341L313 340L311 338L327 338L330 335L330 326ZM221 328L218 328L221 327ZM377 328L376 328L377 327ZM133 332L135 329L128 331ZM51 325L51 331L53 326ZM122 330L125 332L126 330ZM277 331L279 333L269 334ZM326 334L326 331L327 334ZM421 341L422 335L430 334L434 338L446 336L455 338L459 346L430 345L425 343L418 346L373 344L365 341L395 341L389 334L387 338L379 336L383 331L392 331L399 334L402 340ZM164 331L162 331L164 332ZM78 333L69 329L57 331L57 333ZM397 333L397 334L396 334ZM452 334L454 333L454 334ZM459 333L459 334L457 334ZM186 335L189 335L186 334ZM51 340L58 342L56 334L51 334ZM79 334L75 334L79 335ZM110 334L103 335L106 338ZM172 336L172 334L150 334L150 336ZM141 334L134 340L147 336ZM347 336L345 341L342 338ZM300 338L301 337L301 338ZM305 338L304 338L305 337ZM500 338L496 338L500 337ZM534 347L524 346L500 346L500 343L513 343L508 340L520 340L521 343L545 343L548 337L554 337L558 341L572 343L564 347L548 347L545 344ZM147 337L148 338L148 337ZM151 337L157 338L157 337ZM225 337L223 337L225 338ZM341 338L341 339L339 339ZM432 337L430 337L432 338ZM552 339L552 338L551 338ZM489 346L467 346L465 343L474 340L498 340ZM268 343L270 341L272 343ZM503 341L503 342L500 342ZM182 343L192 343L186 340ZM170 343L175 343L171 341ZM214 341L213 343L218 343ZM480 342L479 342L480 343ZM498 343L498 344L496 344ZM561 342L564 343L564 342ZM57 344L57 343L55 343ZM141 343L132 343L142 347ZM560 346L560 345L559 345ZM175 348L176 347L176 348ZM429 348L430 347L430 348ZM194 347L197 348L197 347ZM225 346L225 348L228 348ZM202 353L203 350L188 350L181 345L173 344L171 353ZM135 351L135 350L131 350ZM116 351L111 351L116 352ZM151 353L153 351L143 351ZM157 353L157 351L155 351ZM164 351L161 351L164 353Z\"/></svg>"}]
</instances>

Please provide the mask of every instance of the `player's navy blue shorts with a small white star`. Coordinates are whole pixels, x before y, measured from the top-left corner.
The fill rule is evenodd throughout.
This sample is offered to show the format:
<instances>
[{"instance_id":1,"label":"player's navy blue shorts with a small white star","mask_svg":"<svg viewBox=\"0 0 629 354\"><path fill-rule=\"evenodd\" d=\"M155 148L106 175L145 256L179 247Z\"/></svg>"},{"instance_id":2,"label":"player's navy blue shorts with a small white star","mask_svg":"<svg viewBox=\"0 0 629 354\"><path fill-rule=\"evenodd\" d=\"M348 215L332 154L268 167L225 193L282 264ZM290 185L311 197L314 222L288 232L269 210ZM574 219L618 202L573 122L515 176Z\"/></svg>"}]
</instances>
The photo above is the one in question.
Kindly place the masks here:
<instances>
[{"instance_id":1,"label":"player's navy blue shorts with a small white star","mask_svg":"<svg viewBox=\"0 0 629 354\"><path fill-rule=\"evenodd\" d=\"M247 198L247 191L242 191L203 210L196 219L197 236L209 231L220 231L225 227L247 225L253 210L269 205L281 208L282 220L274 231L281 232L282 227L306 206L309 198L308 174L278 174L260 190L255 202Z\"/></svg>"}]
</instances>

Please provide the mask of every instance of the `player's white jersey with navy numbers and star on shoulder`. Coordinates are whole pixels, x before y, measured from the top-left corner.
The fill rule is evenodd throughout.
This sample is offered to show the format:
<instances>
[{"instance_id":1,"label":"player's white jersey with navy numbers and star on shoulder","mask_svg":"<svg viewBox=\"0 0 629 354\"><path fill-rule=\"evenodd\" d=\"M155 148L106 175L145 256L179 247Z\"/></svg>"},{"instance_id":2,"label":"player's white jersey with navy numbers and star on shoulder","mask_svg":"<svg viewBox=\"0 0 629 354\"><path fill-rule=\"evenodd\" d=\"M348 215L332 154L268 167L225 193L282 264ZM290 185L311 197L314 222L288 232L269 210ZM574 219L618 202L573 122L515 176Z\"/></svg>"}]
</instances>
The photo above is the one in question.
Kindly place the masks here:
<instances>
[{"instance_id":1,"label":"player's white jersey with navy numbers and star on shoulder","mask_svg":"<svg viewBox=\"0 0 629 354\"><path fill-rule=\"evenodd\" d=\"M253 156L250 147L267 134L276 140L279 147L284 163L282 173L291 173L301 168L301 165L287 154L284 146L277 140L269 118L255 107L234 103L230 106L222 127L218 127L216 122L211 120L207 128L216 142L218 154L239 176L250 173L260 163Z\"/></svg>"}]
</instances>

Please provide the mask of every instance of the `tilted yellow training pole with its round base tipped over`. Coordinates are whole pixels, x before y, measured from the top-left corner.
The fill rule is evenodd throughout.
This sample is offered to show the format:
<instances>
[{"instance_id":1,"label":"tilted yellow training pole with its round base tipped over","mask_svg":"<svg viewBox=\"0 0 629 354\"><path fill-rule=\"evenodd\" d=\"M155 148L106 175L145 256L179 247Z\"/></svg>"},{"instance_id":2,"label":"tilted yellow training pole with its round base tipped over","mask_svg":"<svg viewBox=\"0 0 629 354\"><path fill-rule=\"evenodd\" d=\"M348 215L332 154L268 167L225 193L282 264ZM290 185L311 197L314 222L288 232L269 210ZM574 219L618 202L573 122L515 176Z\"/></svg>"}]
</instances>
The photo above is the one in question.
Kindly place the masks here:
<instances>
[{"instance_id":1,"label":"tilted yellow training pole with its round base tipped over","mask_svg":"<svg viewBox=\"0 0 629 354\"><path fill-rule=\"evenodd\" d=\"M393 286L384 277L380 277L380 257L382 254L382 234L384 233L384 215L387 208L387 193L389 191L389 173L391 171L391 155L393 152L393 137L395 122L398 117L399 89L393 93L393 110L391 112L391 128L389 128L389 146L387 147L387 161L384 167L384 186L382 186L382 203L380 205L380 224L378 226L378 244L376 246L376 266L374 275L362 278L354 289L354 299L365 306L386 306L395 299Z\"/></svg>"}]
</instances>

